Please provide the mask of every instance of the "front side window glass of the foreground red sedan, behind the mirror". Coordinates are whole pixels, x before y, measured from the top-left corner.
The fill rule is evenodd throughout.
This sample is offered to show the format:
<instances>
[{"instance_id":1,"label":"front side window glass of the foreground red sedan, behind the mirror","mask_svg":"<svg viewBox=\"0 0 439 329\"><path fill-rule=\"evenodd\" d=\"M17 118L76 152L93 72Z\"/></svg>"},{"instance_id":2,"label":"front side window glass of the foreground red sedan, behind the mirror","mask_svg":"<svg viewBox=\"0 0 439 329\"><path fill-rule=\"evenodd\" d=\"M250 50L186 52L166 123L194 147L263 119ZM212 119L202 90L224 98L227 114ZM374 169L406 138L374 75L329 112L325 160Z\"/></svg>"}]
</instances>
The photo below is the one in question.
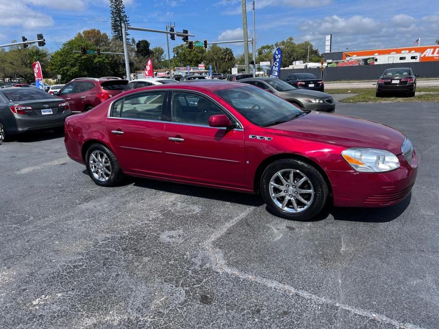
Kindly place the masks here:
<instances>
[{"instance_id":1,"label":"front side window glass of the foreground red sedan, behind the mirror","mask_svg":"<svg viewBox=\"0 0 439 329\"><path fill-rule=\"evenodd\" d=\"M209 117L226 114L210 100L193 93L174 92L172 97L172 121L193 125L209 125ZM229 116L230 118L230 116Z\"/></svg>"}]
</instances>

